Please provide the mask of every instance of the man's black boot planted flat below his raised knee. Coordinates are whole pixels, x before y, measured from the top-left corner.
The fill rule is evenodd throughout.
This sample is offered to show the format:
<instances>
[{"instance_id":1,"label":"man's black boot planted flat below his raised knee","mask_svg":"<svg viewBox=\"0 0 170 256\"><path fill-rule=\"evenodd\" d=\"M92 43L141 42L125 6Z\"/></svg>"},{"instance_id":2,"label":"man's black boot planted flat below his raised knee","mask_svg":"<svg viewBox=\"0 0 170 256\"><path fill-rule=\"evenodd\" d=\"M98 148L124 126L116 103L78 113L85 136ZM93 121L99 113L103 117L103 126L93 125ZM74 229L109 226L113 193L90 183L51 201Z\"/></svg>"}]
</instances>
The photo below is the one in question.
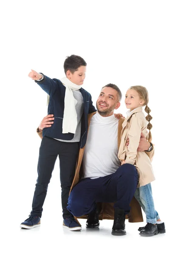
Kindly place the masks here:
<instances>
[{"instance_id":1,"label":"man's black boot planted flat below his raised knee","mask_svg":"<svg viewBox=\"0 0 170 256\"><path fill-rule=\"evenodd\" d=\"M116 208L114 209L114 222L112 227L113 236L124 236L125 231L125 210Z\"/></svg>"}]
</instances>

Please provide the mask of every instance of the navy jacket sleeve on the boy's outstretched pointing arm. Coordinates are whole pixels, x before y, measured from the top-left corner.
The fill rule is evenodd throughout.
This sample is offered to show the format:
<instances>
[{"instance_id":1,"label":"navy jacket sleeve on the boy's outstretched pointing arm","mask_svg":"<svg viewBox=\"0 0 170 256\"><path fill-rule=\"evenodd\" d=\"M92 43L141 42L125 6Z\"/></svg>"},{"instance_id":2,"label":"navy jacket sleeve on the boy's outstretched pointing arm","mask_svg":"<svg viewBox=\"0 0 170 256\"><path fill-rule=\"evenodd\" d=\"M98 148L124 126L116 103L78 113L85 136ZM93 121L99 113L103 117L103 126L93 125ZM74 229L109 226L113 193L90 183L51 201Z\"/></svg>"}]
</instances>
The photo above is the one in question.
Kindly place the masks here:
<instances>
[{"instance_id":1,"label":"navy jacket sleeve on the boy's outstretched pointing arm","mask_svg":"<svg viewBox=\"0 0 170 256\"><path fill-rule=\"evenodd\" d=\"M42 74L42 73L40 73ZM59 82L57 79L51 79L48 76L44 76L41 81L35 81L49 96L52 96L59 89Z\"/></svg>"}]
</instances>

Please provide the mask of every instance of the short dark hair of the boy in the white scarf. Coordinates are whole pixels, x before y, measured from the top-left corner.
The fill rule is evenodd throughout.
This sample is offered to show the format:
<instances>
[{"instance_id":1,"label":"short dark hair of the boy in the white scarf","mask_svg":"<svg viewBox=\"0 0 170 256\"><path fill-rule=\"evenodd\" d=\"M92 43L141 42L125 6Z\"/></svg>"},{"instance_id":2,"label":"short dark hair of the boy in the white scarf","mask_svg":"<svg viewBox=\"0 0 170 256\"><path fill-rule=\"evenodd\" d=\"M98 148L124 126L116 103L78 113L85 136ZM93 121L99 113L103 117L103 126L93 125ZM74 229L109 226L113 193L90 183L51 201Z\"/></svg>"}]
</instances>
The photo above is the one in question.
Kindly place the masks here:
<instances>
[{"instance_id":1,"label":"short dark hair of the boy in the white scarf","mask_svg":"<svg viewBox=\"0 0 170 256\"><path fill-rule=\"evenodd\" d=\"M87 66L85 60L78 55L67 56L64 62L64 72L66 75L67 70L70 70L73 74L81 66Z\"/></svg>"}]
</instances>

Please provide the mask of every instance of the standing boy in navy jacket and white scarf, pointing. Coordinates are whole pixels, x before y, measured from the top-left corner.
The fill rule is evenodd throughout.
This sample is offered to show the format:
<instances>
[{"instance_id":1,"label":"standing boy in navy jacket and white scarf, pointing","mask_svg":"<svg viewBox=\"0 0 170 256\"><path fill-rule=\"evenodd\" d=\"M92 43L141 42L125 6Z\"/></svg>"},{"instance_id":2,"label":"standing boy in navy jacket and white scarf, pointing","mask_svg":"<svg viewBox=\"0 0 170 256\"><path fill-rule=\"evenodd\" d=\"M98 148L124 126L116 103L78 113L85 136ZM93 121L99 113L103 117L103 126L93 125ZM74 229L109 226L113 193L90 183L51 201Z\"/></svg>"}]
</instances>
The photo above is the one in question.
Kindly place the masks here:
<instances>
[{"instance_id":1,"label":"standing boy in navy jacket and white scarf, pointing","mask_svg":"<svg viewBox=\"0 0 170 256\"><path fill-rule=\"evenodd\" d=\"M48 114L54 114L54 124L48 129L43 129L32 211L20 227L31 229L40 226L48 183L59 155L63 227L69 230L82 229L66 207L78 151L84 147L87 139L88 113L96 111L90 93L81 88L86 66L83 58L71 55L65 59L66 77L63 79L50 79L34 70L28 74L50 96Z\"/></svg>"}]
</instances>

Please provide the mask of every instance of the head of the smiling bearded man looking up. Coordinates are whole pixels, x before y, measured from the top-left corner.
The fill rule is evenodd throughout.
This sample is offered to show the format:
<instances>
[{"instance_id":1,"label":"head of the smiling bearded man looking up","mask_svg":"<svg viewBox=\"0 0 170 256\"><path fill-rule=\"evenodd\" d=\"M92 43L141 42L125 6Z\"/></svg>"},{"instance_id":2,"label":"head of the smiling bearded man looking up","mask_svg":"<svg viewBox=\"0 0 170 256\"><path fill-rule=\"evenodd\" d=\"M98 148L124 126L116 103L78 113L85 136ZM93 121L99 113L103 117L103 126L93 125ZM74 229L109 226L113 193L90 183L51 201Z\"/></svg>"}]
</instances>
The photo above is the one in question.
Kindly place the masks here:
<instances>
[{"instance_id":1,"label":"head of the smiling bearded man looking up","mask_svg":"<svg viewBox=\"0 0 170 256\"><path fill-rule=\"evenodd\" d=\"M118 92L111 87L104 87L96 102L96 108L101 116L113 115L114 109L119 108L120 102Z\"/></svg>"}]
</instances>

